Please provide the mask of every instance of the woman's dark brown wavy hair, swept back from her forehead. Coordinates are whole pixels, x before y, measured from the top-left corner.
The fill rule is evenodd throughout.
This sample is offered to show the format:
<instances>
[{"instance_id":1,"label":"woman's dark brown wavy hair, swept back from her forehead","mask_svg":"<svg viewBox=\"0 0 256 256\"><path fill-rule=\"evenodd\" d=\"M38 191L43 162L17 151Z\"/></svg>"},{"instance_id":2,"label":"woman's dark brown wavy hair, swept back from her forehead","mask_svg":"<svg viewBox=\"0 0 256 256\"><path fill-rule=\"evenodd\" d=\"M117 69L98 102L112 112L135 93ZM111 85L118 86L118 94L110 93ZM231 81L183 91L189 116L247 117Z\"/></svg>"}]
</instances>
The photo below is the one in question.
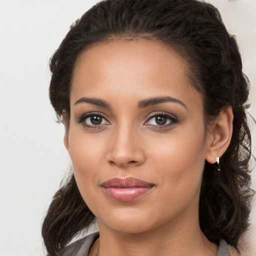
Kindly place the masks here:
<instances>
[{"instance_id":1,"label":"woman's dark brown wavy hair, swept back from her forehead","mask_svg":"<svg viewBox=\"0 0 256 256\"><path fill-rule=\"evenodd\" d=\"M242 73L235 38L227 32L218 10L201 1L101 1L71 25L51 58L49 97L59 118L63 111L70 114L69 92L77 57L93 43L118 38L159 40L183 57L191 84L203 95L205 123L224 107L232 107L233 133L220 159L221 171L205 161L199 223L208 240L225 239L238 249L238 239L248 227L253 191L245 113L249 82ZM71 175L55 193L42 225L49 255L58 255L94 219Z\"/></svg>"}]
</instances>

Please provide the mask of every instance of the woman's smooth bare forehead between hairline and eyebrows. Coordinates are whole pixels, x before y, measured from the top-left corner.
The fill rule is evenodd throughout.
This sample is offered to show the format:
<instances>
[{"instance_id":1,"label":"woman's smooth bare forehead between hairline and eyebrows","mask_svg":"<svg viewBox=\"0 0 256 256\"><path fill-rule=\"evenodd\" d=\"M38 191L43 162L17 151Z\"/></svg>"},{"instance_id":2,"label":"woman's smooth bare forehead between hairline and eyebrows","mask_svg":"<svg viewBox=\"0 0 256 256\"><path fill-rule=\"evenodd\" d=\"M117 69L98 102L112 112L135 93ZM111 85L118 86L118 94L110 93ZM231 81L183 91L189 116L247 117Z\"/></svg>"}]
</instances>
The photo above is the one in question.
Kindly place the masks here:
<instances>
[{"instance_id":1,"label":"woman's smooth bare forehead between hairline and eyebrows","mask_svg":"<svg viewBox=\"0 0 256 256\"><path fill-rule=\"evenodd\" d=\"M82 96L118 100L173 96L200 100L190 84L187 63L170 47L156 40L116 40L85 49L77 59L70 103Z\"/></svg>"}]
</instances>

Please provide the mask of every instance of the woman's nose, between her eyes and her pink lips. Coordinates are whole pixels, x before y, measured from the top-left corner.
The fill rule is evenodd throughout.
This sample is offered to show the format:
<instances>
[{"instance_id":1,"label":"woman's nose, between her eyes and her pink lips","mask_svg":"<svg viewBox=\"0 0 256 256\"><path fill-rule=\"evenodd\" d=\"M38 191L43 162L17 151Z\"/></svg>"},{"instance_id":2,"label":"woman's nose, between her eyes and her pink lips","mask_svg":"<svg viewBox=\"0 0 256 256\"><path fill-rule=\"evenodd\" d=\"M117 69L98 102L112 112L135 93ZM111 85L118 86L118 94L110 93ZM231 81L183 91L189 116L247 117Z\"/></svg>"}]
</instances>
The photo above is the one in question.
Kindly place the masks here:
<instances>
[{"instance_id":1,"label":"woman's nose, between her eyes and her pink lips","mask_svg":"<svg viewBox=\"0 0 256 256\"><path fill-rule=\"evenodd\" d=\"M145 161L143 144L134 129L120 127L109 138L107 161L111 165L128 167L141 165Z\"/></svg>"}]
</instances>

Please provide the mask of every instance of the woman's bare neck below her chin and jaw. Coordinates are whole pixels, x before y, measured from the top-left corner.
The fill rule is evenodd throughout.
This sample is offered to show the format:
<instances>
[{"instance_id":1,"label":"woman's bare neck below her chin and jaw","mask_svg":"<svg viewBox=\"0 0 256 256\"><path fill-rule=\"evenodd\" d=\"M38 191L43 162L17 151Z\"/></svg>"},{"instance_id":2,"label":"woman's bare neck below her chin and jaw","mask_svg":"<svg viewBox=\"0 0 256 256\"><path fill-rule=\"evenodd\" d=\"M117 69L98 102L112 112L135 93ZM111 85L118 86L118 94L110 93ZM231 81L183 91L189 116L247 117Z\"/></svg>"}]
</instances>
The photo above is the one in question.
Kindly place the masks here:
<instances>
[{"instance_id":1,"label":"woman's bare neck below her chin and jaw","mask_svg":"<svg viewBox=\"0 0 256 256\"><path fill-rule=\"evenodd\" d=\"M207 240L200 230L198 221L190 223L183 221L180 224L180 221L174 221L139 233L119 232L99 223L100 238L94 244L93 253L90 255L215 256L216 244Z\"/></svg>"}]
</instances>

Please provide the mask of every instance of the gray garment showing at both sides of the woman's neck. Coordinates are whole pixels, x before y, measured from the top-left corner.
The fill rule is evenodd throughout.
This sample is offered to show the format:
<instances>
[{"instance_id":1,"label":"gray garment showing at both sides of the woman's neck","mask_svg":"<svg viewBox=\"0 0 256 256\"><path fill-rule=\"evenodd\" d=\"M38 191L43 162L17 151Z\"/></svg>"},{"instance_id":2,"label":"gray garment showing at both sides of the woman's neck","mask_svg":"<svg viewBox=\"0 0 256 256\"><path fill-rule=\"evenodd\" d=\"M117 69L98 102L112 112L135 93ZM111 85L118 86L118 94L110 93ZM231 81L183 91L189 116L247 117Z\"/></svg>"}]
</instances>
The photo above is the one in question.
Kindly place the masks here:
<instances>
[{"instance_id":1,"label":"gray garment showing at both sides of the woman's neck","mask_svg":"<svg viewBox=\"0 0 256 256\"><path fill-rule=\"evenodd\" d=\"M88 256L94 241L99 237L99 233L91 233L60 251L61 256ZM229 248L225 240L220 240L216 256L230 256Z\"/></svg>"}]
</instances>

